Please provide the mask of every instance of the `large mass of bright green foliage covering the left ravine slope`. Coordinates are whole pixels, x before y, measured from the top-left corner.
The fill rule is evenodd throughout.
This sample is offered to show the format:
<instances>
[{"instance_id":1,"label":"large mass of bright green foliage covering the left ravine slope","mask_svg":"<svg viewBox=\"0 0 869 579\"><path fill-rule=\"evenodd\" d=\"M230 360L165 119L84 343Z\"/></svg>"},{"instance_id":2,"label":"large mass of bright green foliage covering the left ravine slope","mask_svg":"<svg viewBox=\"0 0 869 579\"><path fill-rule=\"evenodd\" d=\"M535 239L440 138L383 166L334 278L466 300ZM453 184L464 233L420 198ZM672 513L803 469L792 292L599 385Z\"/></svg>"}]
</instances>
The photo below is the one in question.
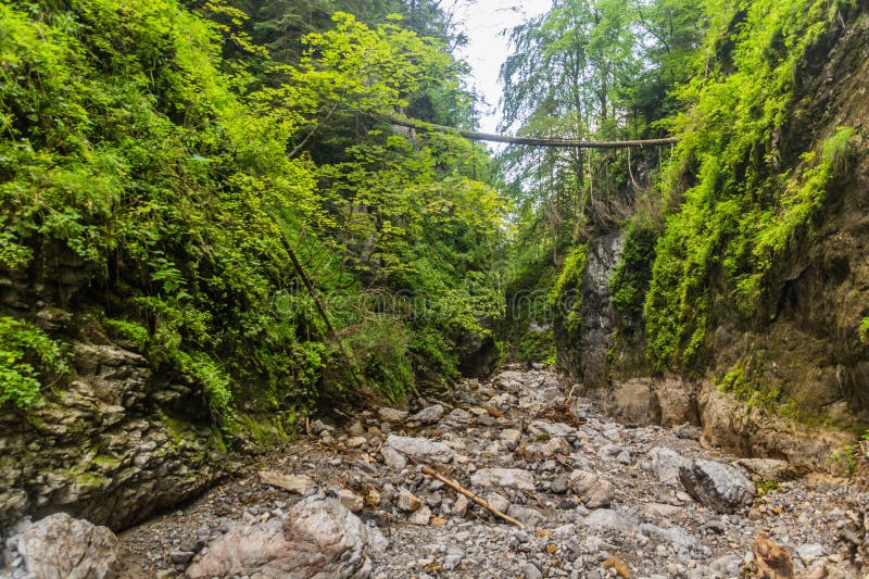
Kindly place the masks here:
<instances>
[{"instance_id":1,"label":"large mass of bright green foliage covering the left ravine slope","mask_svg":"<svg viewBox=\"0 0 869 579\"><path fill-rule=\"evenodd\" d=\"M0 2L0 268L78 260L103 328L196 385L227 432L239 410L295 416L358 379L399 401L454 376L455 341L503 311L480 273L503 202L475 177L482 149L363 113L466 117L463 66L400 21L338 13L267 68L262 20L189 4ZM426 306L365 303L378 292ZM35 403L60 368L28 348L3 401ZM354 360L365 376L328 372Z\"/></svg>"}]
</instances>

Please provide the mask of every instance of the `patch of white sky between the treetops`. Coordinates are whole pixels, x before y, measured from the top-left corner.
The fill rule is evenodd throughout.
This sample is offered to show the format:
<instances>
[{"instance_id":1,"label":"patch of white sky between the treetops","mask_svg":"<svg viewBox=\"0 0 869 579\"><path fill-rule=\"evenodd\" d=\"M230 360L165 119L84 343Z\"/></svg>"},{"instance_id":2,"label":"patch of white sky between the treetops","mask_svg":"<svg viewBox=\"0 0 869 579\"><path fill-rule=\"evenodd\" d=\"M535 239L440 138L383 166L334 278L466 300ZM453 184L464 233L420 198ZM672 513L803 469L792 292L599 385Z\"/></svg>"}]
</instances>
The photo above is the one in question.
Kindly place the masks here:
<instances>
[{"instance_id":1,"label":"patch of white sky between the treetops","mask_svg":"<svg viewBox=\"0 0 869 579\"><path fill-rule=\"evenodd\" d=\"M502 87L498 74L507 58L508 42L507 37L499 33L542 14L551 5L552 0L461 1L456 21L464 24L468 43L459 51L459 55L470 64L473 86L488 104L479 111L480 130L495 133L501 121L499 103Z\"/></svg>"}]
</instances>

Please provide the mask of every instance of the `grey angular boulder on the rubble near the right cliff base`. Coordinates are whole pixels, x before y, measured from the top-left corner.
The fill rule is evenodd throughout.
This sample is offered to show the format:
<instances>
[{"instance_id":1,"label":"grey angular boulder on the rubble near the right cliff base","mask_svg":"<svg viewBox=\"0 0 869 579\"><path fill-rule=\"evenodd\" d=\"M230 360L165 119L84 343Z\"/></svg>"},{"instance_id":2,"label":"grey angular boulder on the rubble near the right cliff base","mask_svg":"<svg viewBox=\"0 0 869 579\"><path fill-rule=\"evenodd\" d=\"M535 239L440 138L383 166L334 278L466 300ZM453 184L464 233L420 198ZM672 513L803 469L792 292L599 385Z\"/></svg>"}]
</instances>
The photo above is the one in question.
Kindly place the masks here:
<instances>
[{"instance_id":1,"label":"grey angular boulder on the rubble near the right cliff base","mask_svg":"<svg viewBox=\"0 0 869 579\"><path fill-rule=\"evenodd\" d=\"M694 460L680 466L679 480L691 496L716 513L735 513L755 495L754 484L742 470L715 461Z\"/></svg>"}]
</instances>

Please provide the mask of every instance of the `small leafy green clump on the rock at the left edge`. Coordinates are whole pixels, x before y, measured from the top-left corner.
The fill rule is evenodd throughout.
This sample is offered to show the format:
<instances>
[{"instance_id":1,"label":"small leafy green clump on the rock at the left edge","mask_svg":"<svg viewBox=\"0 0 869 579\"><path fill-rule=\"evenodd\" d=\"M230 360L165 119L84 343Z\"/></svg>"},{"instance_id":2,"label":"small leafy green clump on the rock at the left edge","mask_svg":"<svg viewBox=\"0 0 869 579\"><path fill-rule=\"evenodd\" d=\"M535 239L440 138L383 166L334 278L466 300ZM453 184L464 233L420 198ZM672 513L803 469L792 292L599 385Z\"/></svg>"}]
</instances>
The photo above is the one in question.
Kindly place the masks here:
<instances>
[{"instance_id":1,"label":"small leafy green clump on the rock at the left edge","mask_svg":"<svg viewBox=\"0 0 869 579\"><path fill-rule=\"evenodd\" d=\"M39 328L0 316L0 406L42 403L42 381L68 372L61 347Z\"/></svg>"}]
</instances>

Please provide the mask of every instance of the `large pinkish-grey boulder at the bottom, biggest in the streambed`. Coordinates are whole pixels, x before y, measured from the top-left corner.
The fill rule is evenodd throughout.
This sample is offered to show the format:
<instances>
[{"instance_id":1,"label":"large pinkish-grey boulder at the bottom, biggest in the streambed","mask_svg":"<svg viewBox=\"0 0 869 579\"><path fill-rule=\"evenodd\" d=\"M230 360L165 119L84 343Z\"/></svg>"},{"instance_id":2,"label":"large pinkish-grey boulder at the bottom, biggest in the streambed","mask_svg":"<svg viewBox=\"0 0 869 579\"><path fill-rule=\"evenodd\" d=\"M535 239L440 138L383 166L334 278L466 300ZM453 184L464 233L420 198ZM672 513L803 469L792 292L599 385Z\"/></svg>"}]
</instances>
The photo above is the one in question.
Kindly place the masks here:
<instances>
[{"instance_id":1,"label":"large pinkish-grey boulder at the bottom, biggest in the streambed","mask_svg":"<svg viewBox=\"0 0 869 579\"><path fill-rule=\"evenodd\" d=\"M230 530L187 576L364 578L370 543L362 520L338 501L308 496L281 518Z\"/></svg>"}]
</instances>

